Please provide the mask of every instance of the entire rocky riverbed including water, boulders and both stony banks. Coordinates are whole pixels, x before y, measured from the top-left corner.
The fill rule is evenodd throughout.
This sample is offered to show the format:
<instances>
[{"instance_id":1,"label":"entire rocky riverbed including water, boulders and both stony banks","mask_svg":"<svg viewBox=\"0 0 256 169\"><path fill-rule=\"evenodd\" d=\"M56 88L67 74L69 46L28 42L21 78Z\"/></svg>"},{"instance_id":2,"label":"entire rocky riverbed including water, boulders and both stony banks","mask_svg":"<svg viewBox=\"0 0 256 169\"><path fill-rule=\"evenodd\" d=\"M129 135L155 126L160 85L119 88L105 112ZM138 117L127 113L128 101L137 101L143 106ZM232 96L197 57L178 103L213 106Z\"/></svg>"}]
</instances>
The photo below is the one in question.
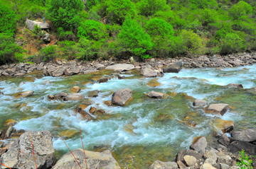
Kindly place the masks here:
<instances>
[{"instance_id":1,"label":"entire rocky riverbed including water, boulders and both stony banks","mask_svg":"<svg viewBox=\"0 0 256 169\"><path fill-rule=\"evenodd\" d=\"M238 168L256 150L254 57L2 66L0 162L36 168L32 139L38 168L80 168L62 137L85 168L81 127L89 168Z\"/></svg>"}]
</instances>

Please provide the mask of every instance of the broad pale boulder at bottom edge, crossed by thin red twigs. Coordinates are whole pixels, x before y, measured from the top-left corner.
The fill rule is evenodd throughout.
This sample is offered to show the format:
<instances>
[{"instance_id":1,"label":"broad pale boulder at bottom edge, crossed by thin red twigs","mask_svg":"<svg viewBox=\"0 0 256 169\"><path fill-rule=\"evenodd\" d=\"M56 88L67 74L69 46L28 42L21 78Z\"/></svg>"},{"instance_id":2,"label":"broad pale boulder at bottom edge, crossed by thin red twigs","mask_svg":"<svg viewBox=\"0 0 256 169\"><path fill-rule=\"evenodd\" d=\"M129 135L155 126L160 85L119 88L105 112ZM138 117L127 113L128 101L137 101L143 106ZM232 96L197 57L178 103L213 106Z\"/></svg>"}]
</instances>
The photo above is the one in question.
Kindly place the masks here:
<instances>
[{"instance_id":1,"label":"broad pale boulder at bottom edge, crossed by thin red twigs","mask_svg":"<svg viewBox=\"0 0 256 169\"><path fill-rule=\"evenodd\" d=\"M82 148L76 149L73 151L75 158L77 158L78 163L80 163L82 168L86 168L85 165L85 156L87 159L88 168L104 168L104 169L120 169L117 161L112 156L112 153L107 150L102 153L85 151L85 154ZM53 169L80 169L78 163L75 162L74 157L71 153L66 153L60 160L53 166Z\"/></svg>"}]
</instances>

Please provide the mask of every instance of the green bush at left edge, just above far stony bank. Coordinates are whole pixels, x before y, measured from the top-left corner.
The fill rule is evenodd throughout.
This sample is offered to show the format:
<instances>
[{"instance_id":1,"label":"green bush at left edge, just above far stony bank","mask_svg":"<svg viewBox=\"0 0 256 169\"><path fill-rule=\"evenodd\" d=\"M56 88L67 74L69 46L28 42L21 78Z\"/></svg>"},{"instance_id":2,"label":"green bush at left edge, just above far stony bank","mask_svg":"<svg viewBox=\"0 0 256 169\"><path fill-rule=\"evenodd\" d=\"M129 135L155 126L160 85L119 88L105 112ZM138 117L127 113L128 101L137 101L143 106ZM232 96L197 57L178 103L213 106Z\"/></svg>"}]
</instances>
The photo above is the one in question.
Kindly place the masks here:
<instances>
[{"instance_id":1,"label":"green bush at left edge, just above far stony bank","mask_svg":"<svg viewBox=\"0 0 256 169\"><path fill-rule=\"evenodd\" d=\"M22 61L24 50L16 45L14 38L6 33L0 33L0 65Z\"/></svg>"}]
</instances>

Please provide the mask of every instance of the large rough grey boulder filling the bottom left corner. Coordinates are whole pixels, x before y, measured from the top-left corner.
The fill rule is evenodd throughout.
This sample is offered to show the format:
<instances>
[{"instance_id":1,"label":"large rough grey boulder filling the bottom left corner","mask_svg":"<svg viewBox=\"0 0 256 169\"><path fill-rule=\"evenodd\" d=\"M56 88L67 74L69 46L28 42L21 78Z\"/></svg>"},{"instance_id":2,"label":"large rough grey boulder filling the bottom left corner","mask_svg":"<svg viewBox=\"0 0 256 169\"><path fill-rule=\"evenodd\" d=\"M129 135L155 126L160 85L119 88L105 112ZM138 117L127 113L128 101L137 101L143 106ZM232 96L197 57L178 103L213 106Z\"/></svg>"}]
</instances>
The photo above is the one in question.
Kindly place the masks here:
<instances>
[{"instance_id":1,"label":"large rough grey boulder filling the bottom left corner","mask_svg":"<svg viewBox=\"0 0 256 169\"><path fill-rule=\"evenodd\" d=\"M50 168L54 162L53 136L49 131L31 132L31 138L38 169ZM11 144L9 151L1 156L1 163L9 168L36 168L31 138L28 132L21 134L20 138ZM4 167L1 166L1 168Z\"/></svg>"}]
</instances>

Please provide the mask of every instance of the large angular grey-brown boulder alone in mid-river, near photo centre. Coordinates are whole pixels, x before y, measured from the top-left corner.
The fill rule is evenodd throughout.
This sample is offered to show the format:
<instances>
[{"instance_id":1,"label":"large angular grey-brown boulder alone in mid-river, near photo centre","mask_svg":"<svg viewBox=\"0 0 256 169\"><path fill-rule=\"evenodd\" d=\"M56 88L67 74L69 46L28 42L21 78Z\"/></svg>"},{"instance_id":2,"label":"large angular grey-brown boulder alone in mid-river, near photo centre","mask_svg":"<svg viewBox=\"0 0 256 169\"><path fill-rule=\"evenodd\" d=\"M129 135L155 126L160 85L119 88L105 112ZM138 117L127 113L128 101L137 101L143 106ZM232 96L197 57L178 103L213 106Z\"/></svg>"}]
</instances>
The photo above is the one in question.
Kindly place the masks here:
<instances>
[{"instance_id":1,"label":"large angular grey-brown boulder alone in mid-river, near photo centre","mask_svg":"<svg viewBox=\"0 0 256 169\"><path fill-rule=\"evenodd\" d=\"M112 104L125 105L125 103L127 103L130 99L132 99L132 90L130 88L124 88L113 93Z\"/></svg>"}]
</instances>

